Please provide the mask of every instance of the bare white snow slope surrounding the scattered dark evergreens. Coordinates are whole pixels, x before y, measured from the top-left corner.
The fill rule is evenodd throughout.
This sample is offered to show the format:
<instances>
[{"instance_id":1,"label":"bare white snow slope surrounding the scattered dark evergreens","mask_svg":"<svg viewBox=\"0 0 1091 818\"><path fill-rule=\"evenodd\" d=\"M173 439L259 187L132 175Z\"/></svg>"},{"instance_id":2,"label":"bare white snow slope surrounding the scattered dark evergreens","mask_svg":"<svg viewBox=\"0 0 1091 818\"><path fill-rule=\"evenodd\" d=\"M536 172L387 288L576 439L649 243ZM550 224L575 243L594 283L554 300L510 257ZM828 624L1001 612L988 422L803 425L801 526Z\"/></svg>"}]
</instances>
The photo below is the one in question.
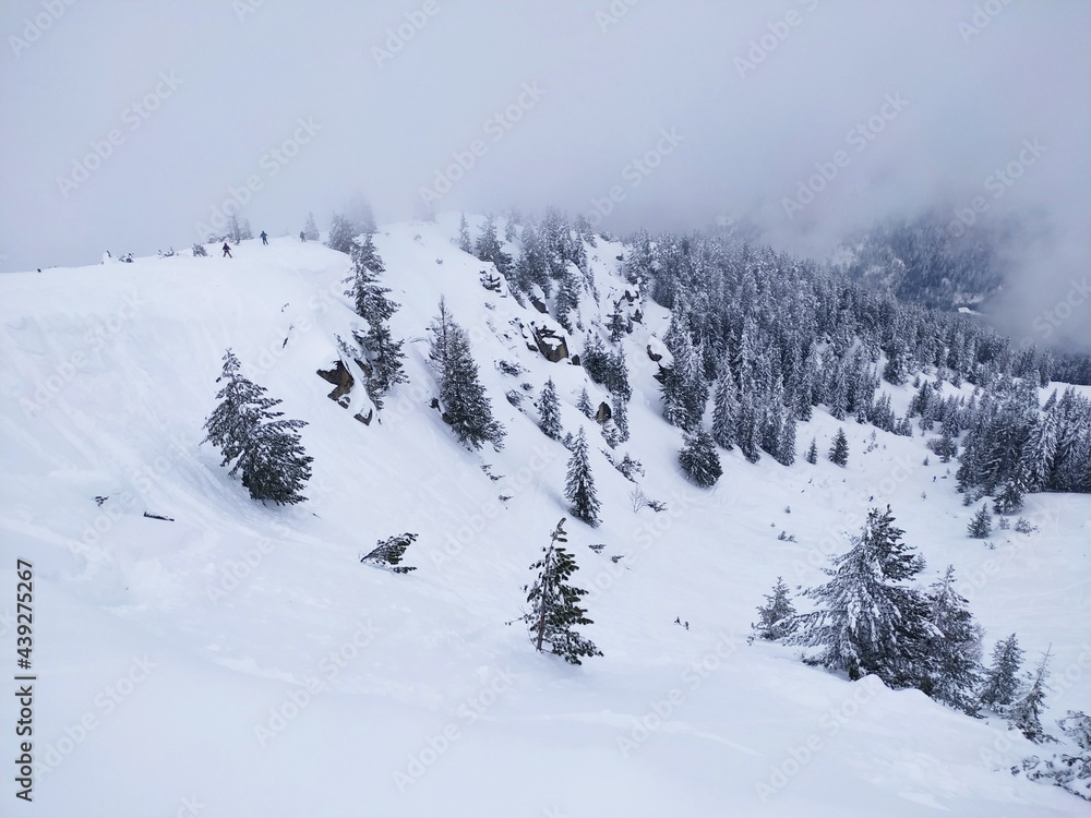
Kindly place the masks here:
<instances>
[{"instance_id":1,"label":"bare white snow slope surrounding the scattered dark evergreens","mask_svg":"<svg viewBox=\"0 0 1091 818\"><path fill-rule=\"evenodd\" d=\"M889 503L927 581L956 566L986 647L1017 631L1034 659L1052 643L1047 715L1087 709L1087 495L1031 495L1039 530L998 532L988 550L966 537L972 509L947 467L922 465L922 438L879 431L865 453L873 428L820 408L800 424L800 448L814 436L824 452L843 425L847 469L751 465L736 450L721 453L715 490L696 489L678 467L681 433L660 417L646 347L668 315L649 303L624 341L632 440L619 452L643 461L643 491L668 508L634 512L634 484L575 408L583 387L596 404L604 393L528 348L517 322L550 320L484 289L454 234L412 222L375 237L409 383L368 425L353 418L370 409L359 389L346 409L316 375L358 321L347 257L316 243L0 277L2 643L14 662L26 560L37 675L34 801L16 804L9 772L5 815L1086 814L1009 774L1040 750L1006 725L849 683L746 636L778 575L817 582L825 554ZM585 325L624 290L621 252L588 248L604 306L585 296ZM441 296L506 426L500 452L466 450L429 406ZM309 423L309 502L254 503L199 445L228 347ZM578 667L506 624L567 516L568 452L532 406L549 377L564 428L592 441L602 501L600 528L567 524L574 581L591 591L585 633L604 652ZM899 411L910 395L896 392ZM418 570L359 563L406 531L420 536L406 554ZM9 762L13 698L2 697Z\"/></svg>"}]
</instances>

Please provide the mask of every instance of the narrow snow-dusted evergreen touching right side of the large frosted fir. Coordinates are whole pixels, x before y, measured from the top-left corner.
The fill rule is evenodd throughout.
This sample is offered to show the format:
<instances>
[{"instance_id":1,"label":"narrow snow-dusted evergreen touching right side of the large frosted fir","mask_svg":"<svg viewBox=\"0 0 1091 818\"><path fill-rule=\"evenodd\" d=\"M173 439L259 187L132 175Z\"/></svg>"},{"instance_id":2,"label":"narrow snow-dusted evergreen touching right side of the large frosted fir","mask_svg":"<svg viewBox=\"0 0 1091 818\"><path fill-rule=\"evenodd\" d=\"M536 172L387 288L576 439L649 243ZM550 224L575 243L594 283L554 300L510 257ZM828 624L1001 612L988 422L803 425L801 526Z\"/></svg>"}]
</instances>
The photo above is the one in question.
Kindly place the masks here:
<instances>
[{"instance_id":1,"label":"narrow snow-dusted evergreen touching right side of the large frosted fir","mask_svg":"<svg viewBox=\"0 0 1091 818\"><path fill-rule=\"evenodd\" d=\"M981 684L981 629L973 622L969 602L955 590L955 566L928 591L928 621L934 628L926 654L932 698L970 715L978 712L975 693Z\"/></svg>"}]
</instances>

